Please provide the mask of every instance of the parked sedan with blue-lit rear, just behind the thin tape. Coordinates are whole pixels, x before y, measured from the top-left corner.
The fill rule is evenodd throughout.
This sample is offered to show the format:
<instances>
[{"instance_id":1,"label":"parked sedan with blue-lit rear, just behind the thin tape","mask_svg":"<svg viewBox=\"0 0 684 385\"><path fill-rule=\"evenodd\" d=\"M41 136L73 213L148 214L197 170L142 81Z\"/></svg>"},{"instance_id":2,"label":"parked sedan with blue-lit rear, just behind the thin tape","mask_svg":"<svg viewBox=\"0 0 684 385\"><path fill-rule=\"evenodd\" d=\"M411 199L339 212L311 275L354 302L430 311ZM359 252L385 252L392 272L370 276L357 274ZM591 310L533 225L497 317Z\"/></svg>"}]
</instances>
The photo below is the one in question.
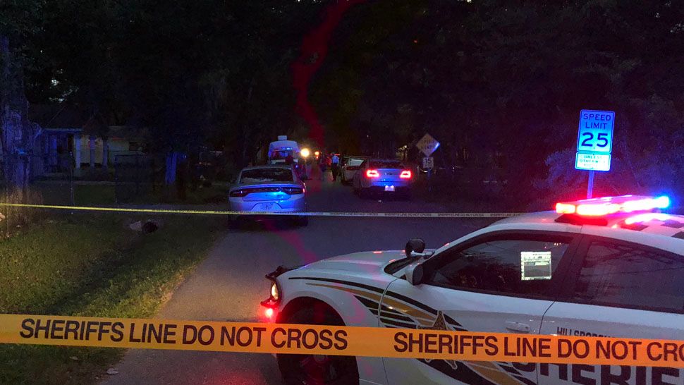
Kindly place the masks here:
<instances>
[{"instance_id":1,"label":"parked sedan with blue-lit rear, just behind the thin tape","mask_svg":"<svg viewBox=\"0 0 684 385\"><path fill-rule=\"evenodd\" d=\"M293 166L267 165L247 167L240 171L228 192L231 211L265 213L306 212L306 185ZM252 216L262 219L264 216ZM233 217L238 221L239 215ZM307 216L295 216L300 226L308 224Z\"/></svg>"}]
</instances>

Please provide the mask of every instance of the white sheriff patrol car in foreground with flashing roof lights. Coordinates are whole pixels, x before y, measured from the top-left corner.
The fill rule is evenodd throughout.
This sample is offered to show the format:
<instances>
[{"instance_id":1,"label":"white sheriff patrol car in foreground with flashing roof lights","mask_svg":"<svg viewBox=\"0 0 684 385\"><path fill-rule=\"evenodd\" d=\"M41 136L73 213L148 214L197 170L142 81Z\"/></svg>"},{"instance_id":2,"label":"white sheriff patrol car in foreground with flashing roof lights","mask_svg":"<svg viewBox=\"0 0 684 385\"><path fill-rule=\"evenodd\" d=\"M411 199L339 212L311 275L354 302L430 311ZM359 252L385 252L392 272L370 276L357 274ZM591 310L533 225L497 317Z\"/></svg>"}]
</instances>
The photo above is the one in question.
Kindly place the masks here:
<instances>
[{"instance_id":1,"label":"white sheriff patrol car in foreground with flashing roof lights","mask_svg":"<svg viewBox=\"0 0 684 385\"><path fill-rule=\"evenodd\" d=\"M411 240L403 251L279 267L262 305L291 324L684 340L684 216L659 212L668 205L630 195L558 203L434 252ZM684 371L668 367L277 360L291 384L684 384Z\"/></svg>"}]
</instances>

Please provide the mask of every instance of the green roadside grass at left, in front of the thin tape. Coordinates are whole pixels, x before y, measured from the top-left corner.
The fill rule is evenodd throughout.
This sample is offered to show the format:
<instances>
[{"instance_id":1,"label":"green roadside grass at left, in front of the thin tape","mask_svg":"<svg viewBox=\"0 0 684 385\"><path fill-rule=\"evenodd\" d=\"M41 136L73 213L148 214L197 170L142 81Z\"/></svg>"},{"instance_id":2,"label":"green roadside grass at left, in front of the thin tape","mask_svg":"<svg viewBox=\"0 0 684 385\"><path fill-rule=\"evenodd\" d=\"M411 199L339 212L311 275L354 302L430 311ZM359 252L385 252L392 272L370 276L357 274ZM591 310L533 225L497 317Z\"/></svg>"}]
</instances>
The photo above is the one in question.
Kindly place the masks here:
<instances>
[{"instance_id":1,"label":"green roadside grass at left, in front of the thin tape","mask_svg":"<svg viewBox=\"0 0 684 385\"><path fill-rule=\"evenodd\" d=\"M126 228L128 217L77 214L0 242L0 312L154 315L206 255L219 228L199 216L163 219L159 231L143 235ZM122 355L119 349L3 345L0 384L91 384Z\"/></svg>"}]
</instances>

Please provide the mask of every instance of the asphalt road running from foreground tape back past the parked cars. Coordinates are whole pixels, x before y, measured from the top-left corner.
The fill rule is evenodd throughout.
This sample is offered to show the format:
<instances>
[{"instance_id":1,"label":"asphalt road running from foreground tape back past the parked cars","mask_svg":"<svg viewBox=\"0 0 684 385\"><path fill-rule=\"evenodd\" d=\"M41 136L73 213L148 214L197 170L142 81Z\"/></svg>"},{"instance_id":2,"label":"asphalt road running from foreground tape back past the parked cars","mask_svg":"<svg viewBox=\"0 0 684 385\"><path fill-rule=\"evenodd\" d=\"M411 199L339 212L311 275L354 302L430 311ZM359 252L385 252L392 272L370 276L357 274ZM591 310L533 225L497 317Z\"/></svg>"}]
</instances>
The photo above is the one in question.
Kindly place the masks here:
<instances>
[{"instance_id":1,"label":"asphalt road running from foreground tape back past the parked cars","mask_svg":"<svg viewBox=\"0 0 684 385\"><path fill-rule=\"evenodd\" d=\"M307 182L310 211L444 212L436 204L377 198L361 200L348 186L328 178ZM268 296L264 274L362 250L399 250L420 237L428 247L487 224L484 219L396 219L312 217L307 227L275 222L228 231L207 259L173 293L159 318L220 321L259 320ZM281 384L271 355L129 350L106 384Z\"/></svg>"}]
</instances>

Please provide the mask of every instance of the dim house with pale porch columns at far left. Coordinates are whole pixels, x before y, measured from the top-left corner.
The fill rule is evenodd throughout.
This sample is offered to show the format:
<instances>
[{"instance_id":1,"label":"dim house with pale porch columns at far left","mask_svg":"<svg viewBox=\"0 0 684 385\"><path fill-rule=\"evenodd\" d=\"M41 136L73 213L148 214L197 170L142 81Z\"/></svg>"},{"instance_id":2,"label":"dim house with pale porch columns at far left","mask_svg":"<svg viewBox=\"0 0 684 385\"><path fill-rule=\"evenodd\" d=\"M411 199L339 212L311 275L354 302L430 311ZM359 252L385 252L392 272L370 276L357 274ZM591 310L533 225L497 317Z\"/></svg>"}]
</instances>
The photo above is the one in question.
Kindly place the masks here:
<instances>
[{"instance_id":1,"label":"dim house with pale porch columns at far left","mask_svg":"<svg viewBox=\"0 0 684 385\"><path fill-rule=\"evenodd\" d=\"M29 119L42 128L33 150L35 176L67 172L70 164L77 175L85 168L108 169L117 154L142 149L142 134L128 126L109 126L102 116L79 106L32 105Z\"/></svg>"}]
</instances>

